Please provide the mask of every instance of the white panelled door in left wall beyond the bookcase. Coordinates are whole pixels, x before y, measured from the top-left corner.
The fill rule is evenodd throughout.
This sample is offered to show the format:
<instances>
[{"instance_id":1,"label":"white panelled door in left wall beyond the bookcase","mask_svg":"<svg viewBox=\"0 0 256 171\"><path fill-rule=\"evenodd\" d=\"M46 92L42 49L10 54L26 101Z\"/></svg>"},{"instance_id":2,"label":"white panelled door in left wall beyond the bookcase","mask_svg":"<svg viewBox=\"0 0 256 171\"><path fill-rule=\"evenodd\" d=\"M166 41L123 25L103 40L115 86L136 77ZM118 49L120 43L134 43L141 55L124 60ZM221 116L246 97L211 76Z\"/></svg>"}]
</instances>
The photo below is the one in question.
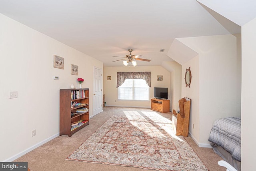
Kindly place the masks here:
<instances>
[{"instance_id":1,"label":"white panelled door in left wall beyond the bookcase","mask_svg":"<svg viewBox=\"0 0 256 171\"><path fill-rule=\"evenodd\" d=\"M102 111L102 70L94 67L93 115Z\"/></svg>"}]
</instances>

